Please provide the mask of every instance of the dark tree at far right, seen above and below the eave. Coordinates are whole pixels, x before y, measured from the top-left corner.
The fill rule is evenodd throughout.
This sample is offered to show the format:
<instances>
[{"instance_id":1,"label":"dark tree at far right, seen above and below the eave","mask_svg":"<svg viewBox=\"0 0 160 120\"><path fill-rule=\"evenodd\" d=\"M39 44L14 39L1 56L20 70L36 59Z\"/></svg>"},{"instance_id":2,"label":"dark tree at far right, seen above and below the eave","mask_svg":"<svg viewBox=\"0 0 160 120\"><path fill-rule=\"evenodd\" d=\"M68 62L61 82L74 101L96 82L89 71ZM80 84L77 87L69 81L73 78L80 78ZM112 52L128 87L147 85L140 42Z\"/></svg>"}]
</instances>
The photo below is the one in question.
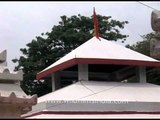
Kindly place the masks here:
<instances>
[{"instance_id":1,"label":"dark tree at far right, seen above and below the eave","mask_svg":"<svg viewBox=\"0 0 160 120\"><path fill-rule=\"evenodd\" d=\"M141 37L143 41L136 42L133 45L126 45L126 47L150 56L150 41L156 37L156 34L152 32ZM147 72L147 82L160 85L160 68L153 68Z\"/></svg>"}]
</instances>

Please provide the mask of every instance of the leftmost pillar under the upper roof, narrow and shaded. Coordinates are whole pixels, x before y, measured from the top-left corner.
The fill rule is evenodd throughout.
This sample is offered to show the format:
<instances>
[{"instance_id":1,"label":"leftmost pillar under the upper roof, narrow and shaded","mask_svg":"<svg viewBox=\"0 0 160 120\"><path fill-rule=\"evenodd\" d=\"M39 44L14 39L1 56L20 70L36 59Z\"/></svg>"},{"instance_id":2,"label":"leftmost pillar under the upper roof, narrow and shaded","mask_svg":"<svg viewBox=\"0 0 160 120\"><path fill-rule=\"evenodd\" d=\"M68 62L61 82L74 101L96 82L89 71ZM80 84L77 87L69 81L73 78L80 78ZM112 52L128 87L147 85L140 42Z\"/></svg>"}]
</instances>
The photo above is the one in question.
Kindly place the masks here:
<instances>
[{"instance_id":1,"label":"leftmost pillar under the upper roof, narrow and shaded","mask_svg":"<svg viewBox=\"0 0 160 120\"><path fill-rule=\"evenodd\" d=\"M55 91L60 88L60 73L52 73L52 91Z\"/></svg>"}]
</instances>

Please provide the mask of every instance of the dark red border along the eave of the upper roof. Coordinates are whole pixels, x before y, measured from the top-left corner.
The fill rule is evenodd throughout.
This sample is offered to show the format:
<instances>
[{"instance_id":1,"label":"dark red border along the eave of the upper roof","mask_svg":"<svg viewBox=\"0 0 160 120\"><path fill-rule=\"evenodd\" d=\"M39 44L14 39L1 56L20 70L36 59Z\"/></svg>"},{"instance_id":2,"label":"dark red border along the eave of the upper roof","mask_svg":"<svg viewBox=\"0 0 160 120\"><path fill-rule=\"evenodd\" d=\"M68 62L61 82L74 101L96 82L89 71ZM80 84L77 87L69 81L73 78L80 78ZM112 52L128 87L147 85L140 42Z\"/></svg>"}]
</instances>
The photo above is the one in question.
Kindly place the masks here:
<instances>
[{"instance_id":1,"label":"dark red border along the eave of the upper roof","mask_svg":"<svg viewBox=\"0 0 160 120\"><path fill-rule=\"evenodd\" d=\"M138 60L121 60L121 59L97 59L97 58L74 58L54 66L46 71L37 74L36 79L41 79L56 71L68 68L75 64L114 64L114 65L131 65L131 66L150 66L160 67L160 62L138 61Z\"/></svg>"}]
</instances>

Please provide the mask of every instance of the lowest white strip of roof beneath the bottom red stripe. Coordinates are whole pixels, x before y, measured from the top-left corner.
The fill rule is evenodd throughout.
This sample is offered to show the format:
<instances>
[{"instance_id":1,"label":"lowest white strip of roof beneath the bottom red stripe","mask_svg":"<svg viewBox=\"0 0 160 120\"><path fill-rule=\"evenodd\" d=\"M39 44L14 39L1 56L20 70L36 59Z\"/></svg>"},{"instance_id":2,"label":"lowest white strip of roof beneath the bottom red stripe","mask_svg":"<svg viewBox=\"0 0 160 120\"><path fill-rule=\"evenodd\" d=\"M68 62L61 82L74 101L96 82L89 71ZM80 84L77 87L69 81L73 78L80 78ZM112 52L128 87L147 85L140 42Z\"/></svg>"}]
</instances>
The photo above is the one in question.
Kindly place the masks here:
<instances>
[{"instance_id":1,"label":"lowest white strip of roof beneath the bottom red stripe","mask_svg":"<svg viewBox=\"0 0 160 120\"><path fill-rule=\"evenodd\" d=\"M22 117L27 119L151 119L160 118L160 114L51 114L51 112L41 112L41 114Z\"/></svg>"}]
</instances>

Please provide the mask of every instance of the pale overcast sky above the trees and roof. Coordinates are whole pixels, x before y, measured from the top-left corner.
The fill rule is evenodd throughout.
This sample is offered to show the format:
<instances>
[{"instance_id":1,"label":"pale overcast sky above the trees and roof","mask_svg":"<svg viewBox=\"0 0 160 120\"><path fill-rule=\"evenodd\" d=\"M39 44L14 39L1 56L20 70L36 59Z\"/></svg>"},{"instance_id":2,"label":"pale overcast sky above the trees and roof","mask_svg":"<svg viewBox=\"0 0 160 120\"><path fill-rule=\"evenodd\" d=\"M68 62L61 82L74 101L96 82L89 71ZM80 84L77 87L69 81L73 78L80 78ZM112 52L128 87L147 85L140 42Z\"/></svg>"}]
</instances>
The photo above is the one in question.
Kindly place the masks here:
<instances>
[{"instance_id":1,"label":"pale overcast sky above the trees and roof","mask_svg":"<svg viewBox=\"0 0 160 120\"><path fill-rule=\"evenodd\" d=\"M142 3L160 9L160 1ZM57 25L61 20L60 16L81 14L90 17L93 7L96 8L97 14L129 22L122 31L123 34L129 35L125 44L141 41L139 34L153 32L153 9L133 1L0 2L0 51L7 49L8 67L13 70L16 64L11 60L22 55L20 48L25 48L27 43L41 33L50 32L53 25Z\"/></svg>"}]
</instances>

